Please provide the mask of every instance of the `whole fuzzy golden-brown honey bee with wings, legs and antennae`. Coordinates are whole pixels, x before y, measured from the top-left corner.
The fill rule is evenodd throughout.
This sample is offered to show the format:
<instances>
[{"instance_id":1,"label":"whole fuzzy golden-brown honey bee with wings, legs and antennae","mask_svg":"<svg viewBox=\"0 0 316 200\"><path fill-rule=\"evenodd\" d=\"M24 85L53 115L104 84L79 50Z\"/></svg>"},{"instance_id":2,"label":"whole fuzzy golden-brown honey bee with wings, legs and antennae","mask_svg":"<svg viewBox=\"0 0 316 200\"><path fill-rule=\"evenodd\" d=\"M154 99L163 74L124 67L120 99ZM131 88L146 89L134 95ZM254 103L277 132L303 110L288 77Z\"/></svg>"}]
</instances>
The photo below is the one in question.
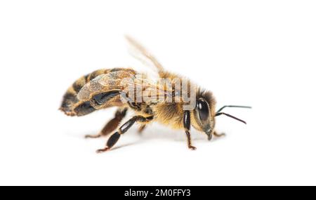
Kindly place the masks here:
<instances>
[{"instance_id":1,"label":"whole fuzzy golden-brown honey bee with wings, legs and antennae","mask_svg":"<svg viewBox=\"0 0 316 200\"><path fill-rule=\"evenodd\" d=\"M167 72L143 46L129 36L126 39L139 55L156 67L159 79L165 81L152 81L146 74L129 68L99 69L81 76L67 89L60 110L68 116L84 116L98 109L118 107L114 118L100 133L86 135L86 138L99 138L117 129L107 140L106 146L96 152L110 150L136 122L140 124L140 132L153 121L184 130L190 149L196 149L191 141L191 126L211 140L212 135L223 135L214 129L216 116L229 116L246 124L242 119L221 111L225 107L250 107L227 105L216 112L216 100L210 91L203 90L182 76ZM119 127L128 110L135 115Z\"/></svg>"}]
</instances>

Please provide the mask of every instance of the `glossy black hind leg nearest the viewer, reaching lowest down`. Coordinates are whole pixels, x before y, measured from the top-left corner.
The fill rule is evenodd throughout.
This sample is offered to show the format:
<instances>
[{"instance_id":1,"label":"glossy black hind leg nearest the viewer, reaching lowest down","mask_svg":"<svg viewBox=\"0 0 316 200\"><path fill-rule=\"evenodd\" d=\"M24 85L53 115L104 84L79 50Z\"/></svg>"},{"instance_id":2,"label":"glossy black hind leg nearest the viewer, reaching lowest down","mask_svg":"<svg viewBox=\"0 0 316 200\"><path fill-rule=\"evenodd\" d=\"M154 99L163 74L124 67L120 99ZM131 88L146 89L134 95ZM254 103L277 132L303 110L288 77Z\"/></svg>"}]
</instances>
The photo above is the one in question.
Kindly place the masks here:
<instances>
[{"instance_id":1,"label":"glossy black hind leg nearest the viewer, reaching lowest down","mask_svg":"<svg viewBox=\"0 0 316 200\"><path fill-rule=\"evenodd\" d=\"M126 121L125 124L119 127L119 130L117 132L115 132L113 135L110 136L109 140L107 140L107 145L105 146L104 149L98 149L96 152L101 153L101 152L106 152L110 150L115 145L115 143L117 143L121 135L126 133L126 131L128 131L129 128L131 128L131 126L133 126L133 124L135 124L136 121L147 122L147 121L151 121L152 119L153 119L153 116L147 116L147 117L141 116L141 115L133 116L131 119L129 119L129 121Z\"/></svg>"}]
</instances>

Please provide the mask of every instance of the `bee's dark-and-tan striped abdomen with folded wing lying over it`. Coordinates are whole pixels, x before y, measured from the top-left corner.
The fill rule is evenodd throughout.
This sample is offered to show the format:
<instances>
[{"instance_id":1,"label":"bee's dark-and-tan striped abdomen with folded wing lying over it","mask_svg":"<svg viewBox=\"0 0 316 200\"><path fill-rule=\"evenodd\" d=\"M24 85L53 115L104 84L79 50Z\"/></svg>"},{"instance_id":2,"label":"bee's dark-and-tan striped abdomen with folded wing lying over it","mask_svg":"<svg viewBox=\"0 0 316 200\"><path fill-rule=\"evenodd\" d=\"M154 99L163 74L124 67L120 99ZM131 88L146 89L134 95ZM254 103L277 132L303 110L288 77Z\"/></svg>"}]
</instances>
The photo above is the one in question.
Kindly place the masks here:
<instances>
[{"instance_id":1,"label":"bee's dark-and-tan striped abdomen with folded wing lying over it","mask_svg":"<svg viewBox=\"0 0 316 200\"><path fill-rule=\"evenodd\" d=\"M60 110L70 116L83 116L96 109L122 105L121 79L135 75L133 69L99 69L81 76L63 96Z\"/></svg>"}]
</instances>

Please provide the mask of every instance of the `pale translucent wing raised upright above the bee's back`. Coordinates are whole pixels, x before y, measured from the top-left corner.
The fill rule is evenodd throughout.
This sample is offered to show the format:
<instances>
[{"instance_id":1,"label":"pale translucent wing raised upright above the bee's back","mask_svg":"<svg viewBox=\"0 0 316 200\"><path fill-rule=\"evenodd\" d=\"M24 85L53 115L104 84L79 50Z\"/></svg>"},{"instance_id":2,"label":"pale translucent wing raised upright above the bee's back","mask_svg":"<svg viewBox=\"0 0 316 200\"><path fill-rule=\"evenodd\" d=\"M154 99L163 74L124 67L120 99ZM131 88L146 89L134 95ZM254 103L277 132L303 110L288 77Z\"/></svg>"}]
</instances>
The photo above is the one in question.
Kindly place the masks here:
<instances>
[{"instance_id":1,"label":"pale translucent wing raised upright above the bee's back","mask_svg":"<svg viewBox=\"0 0 316 200\"><path fill-rule=\"evenodd\" d=\"M140 60L140 62L143 62L145 65L156 67L159 72L164 71L164 67L158 62L154 56L147 51L145 47L140 45L135 39L131 38L131 36L125 36L126 40L129 42L129 45L131 46L131 55L136 58L137 60Z\"/></svg>"}]
</instances>

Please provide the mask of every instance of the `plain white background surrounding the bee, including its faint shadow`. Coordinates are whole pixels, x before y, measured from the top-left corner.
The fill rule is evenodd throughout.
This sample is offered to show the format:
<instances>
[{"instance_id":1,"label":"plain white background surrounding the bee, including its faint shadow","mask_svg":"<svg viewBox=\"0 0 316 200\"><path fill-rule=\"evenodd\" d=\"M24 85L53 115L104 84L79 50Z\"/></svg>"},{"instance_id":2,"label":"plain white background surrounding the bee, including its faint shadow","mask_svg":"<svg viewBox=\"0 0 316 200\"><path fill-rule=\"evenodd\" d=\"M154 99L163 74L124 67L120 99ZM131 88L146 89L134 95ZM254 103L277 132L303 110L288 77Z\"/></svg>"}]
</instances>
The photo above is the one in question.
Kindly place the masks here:
<instances>
[{"instance_id":1,"label":"plain white background surrounding the bee, including its faint shadow","mask_svg":"<svg viewBox=\"0 0 316 200\"><path fill-rule=\"evenodd\" d=\"M0 185L316 185L315 1L1 1ZM153 124L96 154L115 109L58 111L100 68L146 69L124 34L166 69L213 91L225 138ZM137 68L138 67L138 68ZM131 114L129 115L131 116ZM128 118L126 118L128 119Z\"/></svg>"}]
</instances>

